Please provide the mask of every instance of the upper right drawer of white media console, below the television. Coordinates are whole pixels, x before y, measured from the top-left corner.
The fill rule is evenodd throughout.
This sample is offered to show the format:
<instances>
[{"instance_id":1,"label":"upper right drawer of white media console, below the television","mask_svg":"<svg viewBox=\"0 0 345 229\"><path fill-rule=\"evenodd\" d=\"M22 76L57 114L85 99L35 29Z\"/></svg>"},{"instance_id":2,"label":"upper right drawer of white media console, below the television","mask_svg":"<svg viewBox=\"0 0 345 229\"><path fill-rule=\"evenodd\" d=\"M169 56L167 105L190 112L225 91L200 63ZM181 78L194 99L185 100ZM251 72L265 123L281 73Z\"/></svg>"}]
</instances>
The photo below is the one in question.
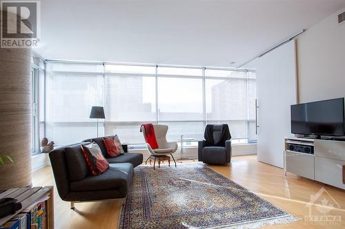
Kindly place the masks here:
<instances>
[{"instance_id":1,"label":"upper right drawer of white media console, below the television","mask_svg":"<svg viewBox=\"0 0 345 229\"><path fill-rule=\"evenodd\" d=\"M345 161L345 142L315 140L314 154L318 157Z\"/></svg>"}]
</instances>

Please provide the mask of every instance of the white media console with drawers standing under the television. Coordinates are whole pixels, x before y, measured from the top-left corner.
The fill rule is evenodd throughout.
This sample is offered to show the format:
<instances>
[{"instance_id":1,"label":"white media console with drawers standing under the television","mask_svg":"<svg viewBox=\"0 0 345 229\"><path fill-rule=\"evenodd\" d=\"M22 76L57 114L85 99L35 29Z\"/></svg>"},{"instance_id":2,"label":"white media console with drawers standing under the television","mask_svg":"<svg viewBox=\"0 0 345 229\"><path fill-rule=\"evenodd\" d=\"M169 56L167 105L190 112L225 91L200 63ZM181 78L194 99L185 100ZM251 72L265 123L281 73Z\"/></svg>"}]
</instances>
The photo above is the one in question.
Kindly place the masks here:
<instances>
[{"instance_id":1,"label":"white media console with drawers standing under the television","mask_svg":"<svg viewBox=\"0 0 345 229\"><path fill-rule=\"evenodd\" d=\"M284 171L345 189L345 142L285 138ZM289 144L313 146L314 154L289 149Z\"/></svg>"}]
</instances>

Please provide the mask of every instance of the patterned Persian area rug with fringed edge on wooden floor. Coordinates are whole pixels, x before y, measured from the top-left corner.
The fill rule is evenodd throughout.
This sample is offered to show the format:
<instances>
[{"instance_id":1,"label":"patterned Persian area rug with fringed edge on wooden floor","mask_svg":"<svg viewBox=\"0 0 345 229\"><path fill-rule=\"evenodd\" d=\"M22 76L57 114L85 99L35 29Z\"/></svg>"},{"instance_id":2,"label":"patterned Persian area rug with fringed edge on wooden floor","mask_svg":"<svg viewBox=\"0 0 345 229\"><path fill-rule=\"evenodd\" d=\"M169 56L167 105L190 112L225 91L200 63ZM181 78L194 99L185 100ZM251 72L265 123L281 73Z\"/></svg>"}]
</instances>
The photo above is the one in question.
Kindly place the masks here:
<instances>
[{"instance_id":1,"label":"patterned Persian area rug with fringed edge on wooden floor","mask_svg":"<svg viewBox=\"0 0 345 229\"><path fill-rule=\"evenodd\" d=\"M204 164L138 166L119 228L259 228L297 218Z\"/></svg>"}]
</instances>

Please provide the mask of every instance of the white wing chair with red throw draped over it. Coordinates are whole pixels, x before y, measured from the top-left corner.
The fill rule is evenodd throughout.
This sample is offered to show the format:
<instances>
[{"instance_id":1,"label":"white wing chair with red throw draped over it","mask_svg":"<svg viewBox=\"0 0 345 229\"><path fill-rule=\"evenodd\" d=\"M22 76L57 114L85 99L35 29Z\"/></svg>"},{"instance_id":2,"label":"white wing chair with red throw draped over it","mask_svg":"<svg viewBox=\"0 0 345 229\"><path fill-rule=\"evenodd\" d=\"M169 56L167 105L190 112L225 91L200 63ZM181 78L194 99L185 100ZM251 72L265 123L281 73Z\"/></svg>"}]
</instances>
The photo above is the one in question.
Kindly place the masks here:
<instances>
[{"instance_id":1,"label":"white wing chair with red throw draped over it","mask_svg":"<svg viewBox=\"0 0 345 229\"><path fill-rule=\"evenodd\" d=\"M151 129L151 126L153 127L153 131ZM146 128L150 128L148 131ZM143 132L144 138L146 141L146 146L148 147L148 151L151 155L171 155L172 160L175 162L176 167L176 161L175 158L172 156L172 153L175 153L177 151L177 142L168 142L166 140L166 133L168 132L168 126L165 124L142 124L140 127L140 132ZM150 139L146 138L146 133L151 134ZM154 133L155 141L157 142L158 148L152 149L151 147L151 140L153 141L152 133ZM148 157L149 159L150 157ZM148 159L145 163L148 162Z\"/></svg>"}]
</instances>

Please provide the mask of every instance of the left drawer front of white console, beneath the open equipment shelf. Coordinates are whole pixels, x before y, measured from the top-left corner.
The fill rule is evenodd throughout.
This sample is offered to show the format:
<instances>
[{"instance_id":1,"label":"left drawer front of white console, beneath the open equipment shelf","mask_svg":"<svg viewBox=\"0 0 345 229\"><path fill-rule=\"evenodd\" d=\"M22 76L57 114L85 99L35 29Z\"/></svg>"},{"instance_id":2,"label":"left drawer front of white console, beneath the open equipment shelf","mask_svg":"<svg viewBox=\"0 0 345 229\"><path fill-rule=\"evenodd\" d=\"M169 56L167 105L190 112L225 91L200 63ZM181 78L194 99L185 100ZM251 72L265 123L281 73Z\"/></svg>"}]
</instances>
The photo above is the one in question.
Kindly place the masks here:
<instances>
[{"instance_id":1,"label":"left drawer front of white console, beneath the open equipment shelf","mask_svg":"<svg viewBox=\"0 0 345 229\"><path fill-rule=\"evenodd\" d=\"M285 164L286 171L314 179L314 155L286 151Z\"/></svg>"}]
</instances>

